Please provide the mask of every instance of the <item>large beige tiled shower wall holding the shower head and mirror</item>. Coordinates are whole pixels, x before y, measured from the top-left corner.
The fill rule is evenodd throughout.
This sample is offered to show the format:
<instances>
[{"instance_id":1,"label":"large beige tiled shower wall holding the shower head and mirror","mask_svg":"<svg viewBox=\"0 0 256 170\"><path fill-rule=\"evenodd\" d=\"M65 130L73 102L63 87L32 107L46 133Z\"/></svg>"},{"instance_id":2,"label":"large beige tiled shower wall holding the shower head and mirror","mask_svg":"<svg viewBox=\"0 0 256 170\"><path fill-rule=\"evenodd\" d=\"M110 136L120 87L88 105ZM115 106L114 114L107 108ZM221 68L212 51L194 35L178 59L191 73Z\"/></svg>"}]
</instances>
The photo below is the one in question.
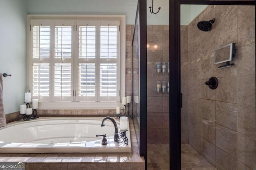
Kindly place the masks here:
<instances>
[{"instance_id":1,"label":"large beige tiled shower wall holding the shower head and mirror","mask_svg":"<svg viewBox=\"0 0 256 170\"><path fill-rule=\"evenodd\" d=\"M217 169L256 169L254 6L208 6L188 26L181 26L182 133ZM202 20L216 21L210 32ZM214 49L236 43L231 67L214 65ZM204 85L217 77L212 90Z\"/></svg>"}]
</instances>

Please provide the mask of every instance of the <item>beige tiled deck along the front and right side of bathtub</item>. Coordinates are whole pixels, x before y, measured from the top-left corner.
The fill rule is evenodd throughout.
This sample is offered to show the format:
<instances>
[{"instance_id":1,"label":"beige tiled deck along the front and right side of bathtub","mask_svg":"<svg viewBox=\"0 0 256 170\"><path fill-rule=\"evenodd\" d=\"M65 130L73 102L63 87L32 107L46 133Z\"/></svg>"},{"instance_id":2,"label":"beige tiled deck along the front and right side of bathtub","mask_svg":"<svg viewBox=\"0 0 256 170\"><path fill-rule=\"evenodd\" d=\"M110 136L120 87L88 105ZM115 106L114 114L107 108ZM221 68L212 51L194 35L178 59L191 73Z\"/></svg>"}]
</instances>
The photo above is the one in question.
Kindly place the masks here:
<instances>
[{"instance_id":1,"label":"beige tiled deck along the front and right side of bathtub","mask_svg":"<svg viewBox=\"0 0 256 170\"><path fill-rule=\"evenodd\" d=\"M26 170L143 170L144 158L139 155L133 123L129 123L132 153L0 154L0 162L24 161Z\"/></svg>"}]
</instances>

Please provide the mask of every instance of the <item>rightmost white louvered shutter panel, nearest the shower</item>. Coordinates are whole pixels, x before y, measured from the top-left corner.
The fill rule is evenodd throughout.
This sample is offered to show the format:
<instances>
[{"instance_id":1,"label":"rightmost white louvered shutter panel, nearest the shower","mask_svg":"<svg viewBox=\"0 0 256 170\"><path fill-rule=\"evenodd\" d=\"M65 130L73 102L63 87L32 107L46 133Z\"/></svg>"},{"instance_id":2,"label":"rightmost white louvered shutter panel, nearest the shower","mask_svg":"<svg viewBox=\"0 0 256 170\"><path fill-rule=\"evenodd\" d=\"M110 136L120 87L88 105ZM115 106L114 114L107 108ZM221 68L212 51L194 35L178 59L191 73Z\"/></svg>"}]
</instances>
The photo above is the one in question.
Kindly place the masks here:
<instances>
[{"instance_id":1,"label":"rightmost white louvered shutter panel, nearest the shower","mask_svg":"<svg viewBox=\"0 0 256 170\"><path fill-rule=\"evenodd\" d=\"M118 101L120 21L100 21L100 101Z\"/></svg>"}]
</instances>

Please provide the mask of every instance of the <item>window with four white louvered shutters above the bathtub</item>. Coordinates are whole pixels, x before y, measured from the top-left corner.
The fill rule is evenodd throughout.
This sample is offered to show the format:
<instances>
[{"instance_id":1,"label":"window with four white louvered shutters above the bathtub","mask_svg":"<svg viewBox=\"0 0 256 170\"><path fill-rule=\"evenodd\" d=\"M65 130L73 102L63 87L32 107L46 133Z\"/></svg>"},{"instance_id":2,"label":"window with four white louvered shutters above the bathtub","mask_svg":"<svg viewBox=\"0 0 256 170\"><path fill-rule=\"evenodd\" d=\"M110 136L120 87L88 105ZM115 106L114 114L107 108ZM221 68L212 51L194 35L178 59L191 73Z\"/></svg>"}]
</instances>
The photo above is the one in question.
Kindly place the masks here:
<instances>
[{"instance_id":1,"label":"window with four white louvered shutters above the bathtub","mask_svg":"<svg viewBox=\"0 0 256 170\"><path fill-rule=\"evenodd\" d=\"M120 101L125 86L120 83L125 64L120 19L30 19L29 35L32 98L42 103Z\"/></svg>"}]
</instances>

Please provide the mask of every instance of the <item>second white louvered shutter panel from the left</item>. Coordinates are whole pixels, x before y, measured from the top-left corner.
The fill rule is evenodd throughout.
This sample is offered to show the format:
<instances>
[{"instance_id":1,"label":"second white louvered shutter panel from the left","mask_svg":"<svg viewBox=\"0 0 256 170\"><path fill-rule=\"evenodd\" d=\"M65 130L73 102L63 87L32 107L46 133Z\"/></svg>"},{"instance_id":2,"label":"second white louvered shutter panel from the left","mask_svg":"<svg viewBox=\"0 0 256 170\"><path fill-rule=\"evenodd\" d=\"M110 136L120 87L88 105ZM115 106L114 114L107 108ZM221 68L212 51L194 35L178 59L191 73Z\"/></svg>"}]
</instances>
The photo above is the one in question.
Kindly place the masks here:
<instances>
[{"instance_id":1,"label":"second white louvered shutter panel from the left","mask_svg":"<svg viewBox=\"0 0 256 170\"><path fill-rule=\"evenodd\" d=\"M54 20L53 101L73 101L74 21Z\"/></svg>"}]
</instances>

